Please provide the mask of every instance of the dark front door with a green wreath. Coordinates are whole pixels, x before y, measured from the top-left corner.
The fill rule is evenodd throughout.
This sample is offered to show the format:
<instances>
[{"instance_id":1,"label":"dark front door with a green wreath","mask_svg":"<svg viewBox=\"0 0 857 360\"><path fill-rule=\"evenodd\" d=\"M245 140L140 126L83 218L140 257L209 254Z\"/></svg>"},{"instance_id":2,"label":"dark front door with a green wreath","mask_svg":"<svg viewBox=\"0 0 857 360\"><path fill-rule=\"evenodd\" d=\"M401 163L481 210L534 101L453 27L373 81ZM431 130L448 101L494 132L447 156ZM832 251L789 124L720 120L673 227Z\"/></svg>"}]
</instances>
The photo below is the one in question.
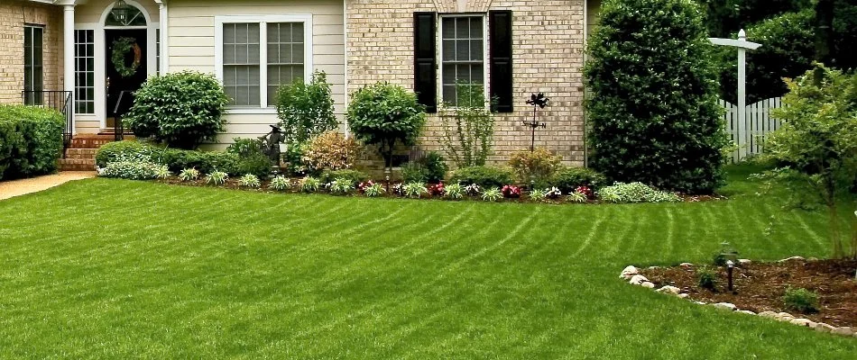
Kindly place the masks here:
<instances>
[{"instance_id":1,"label":"dark front door with a green wreath","mask_svg":"<svg viewBox=\"0 0 857 360\"><path fill-rule=\"evenodd\" d=\"M146 29L105 31L107 130L115 128L119 94L136 91L146 81L146 39ZM127 99L123 99L125 103L128 103Z\"/></svg>"}]
</instances>

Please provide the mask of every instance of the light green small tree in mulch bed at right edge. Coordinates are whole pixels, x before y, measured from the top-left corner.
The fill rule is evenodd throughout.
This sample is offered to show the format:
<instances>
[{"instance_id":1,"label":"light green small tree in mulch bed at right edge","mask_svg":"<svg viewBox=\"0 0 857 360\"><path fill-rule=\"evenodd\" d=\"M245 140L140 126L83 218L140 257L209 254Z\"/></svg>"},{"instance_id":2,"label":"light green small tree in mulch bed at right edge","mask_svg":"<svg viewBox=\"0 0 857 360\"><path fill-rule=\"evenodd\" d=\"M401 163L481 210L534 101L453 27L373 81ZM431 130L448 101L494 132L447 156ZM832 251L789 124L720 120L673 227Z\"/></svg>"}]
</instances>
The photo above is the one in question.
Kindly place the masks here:
<instances>
[{"instance_id":1,"label":"light green small tree in mulch bed at right edge","mask_svg":"<svg viewBox=\"0 0 857 360\"><path fill-rule=\"evenodd\" d=\"M824 78L820 86L816 70L786 81L784 106L773 112L783 125L765 142L765 156L781 166L766 175L825 204L834 257L843 257L837 204L852 196L857 176L857 76L820 65L817 69ZM857 244L852 244L851 256L857 257Z\"/></svg>"}]
</instances>

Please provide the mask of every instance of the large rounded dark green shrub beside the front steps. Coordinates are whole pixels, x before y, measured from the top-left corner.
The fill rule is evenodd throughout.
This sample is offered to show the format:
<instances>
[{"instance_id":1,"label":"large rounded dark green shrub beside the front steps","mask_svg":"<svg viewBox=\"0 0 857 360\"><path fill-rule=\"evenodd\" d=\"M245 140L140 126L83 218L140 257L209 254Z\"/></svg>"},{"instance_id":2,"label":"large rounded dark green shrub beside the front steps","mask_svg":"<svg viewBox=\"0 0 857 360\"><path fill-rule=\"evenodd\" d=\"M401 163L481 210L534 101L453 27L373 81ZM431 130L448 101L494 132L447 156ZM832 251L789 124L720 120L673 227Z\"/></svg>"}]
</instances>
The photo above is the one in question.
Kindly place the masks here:
<instances>
[{"instance_id":1,"label":"large rounded dark green shrub beside the front steps","mask_svg":"<svg viewBox=\"0 0 857 360\"><path fill-rule=\"evenodd\" d=\"M123 121L138 137L194 149L224 130L228 103L215 76L195 71L170 73L146 80L134 93L134 106Z\"/></svg>"}]
</instances>

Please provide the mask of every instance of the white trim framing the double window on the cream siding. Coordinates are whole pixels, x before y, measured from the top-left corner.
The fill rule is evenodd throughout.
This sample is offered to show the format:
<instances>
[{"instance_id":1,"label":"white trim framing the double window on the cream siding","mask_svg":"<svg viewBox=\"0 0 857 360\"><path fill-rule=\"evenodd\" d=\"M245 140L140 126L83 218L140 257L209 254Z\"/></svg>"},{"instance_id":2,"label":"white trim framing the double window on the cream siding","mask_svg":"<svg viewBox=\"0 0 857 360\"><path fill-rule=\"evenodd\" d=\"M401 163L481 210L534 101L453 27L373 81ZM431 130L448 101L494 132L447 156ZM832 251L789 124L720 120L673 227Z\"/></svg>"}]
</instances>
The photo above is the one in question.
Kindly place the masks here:
<instances>
[{"instance_id":1,"label":"white trim framing the double window on the cream siding","mask_svg":"<svg viewBox=\"0 0 857 360\"><path fill-rule=\"evenodd\" d=\"M303 23L304 80L312 77L312 14L288 15L224 15L215 16L215 76L223 84L223 25L225 23L259 24L259 100L260 106L229 106L230 113L270 114L277 109L268 107L268 23Z\"/></svg>"}]
</instances>

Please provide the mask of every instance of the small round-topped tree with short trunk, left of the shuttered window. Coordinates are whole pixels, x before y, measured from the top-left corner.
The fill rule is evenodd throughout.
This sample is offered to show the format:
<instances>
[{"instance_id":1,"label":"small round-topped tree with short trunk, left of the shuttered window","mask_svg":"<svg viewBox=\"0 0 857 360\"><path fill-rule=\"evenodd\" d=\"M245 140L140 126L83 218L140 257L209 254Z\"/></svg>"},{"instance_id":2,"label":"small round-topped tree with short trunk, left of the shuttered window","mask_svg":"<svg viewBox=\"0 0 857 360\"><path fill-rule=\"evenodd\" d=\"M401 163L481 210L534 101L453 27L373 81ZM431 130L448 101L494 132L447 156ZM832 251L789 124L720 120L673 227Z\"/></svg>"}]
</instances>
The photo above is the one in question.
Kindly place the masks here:
<instances>
[{"instance_id":1,"label":"small round-topped tree with short trunk, left of the shuttered window","mask_svg":"<svg viewBox=\"0 0 857 360\"><path fill-rule=\"evenodd\" d=\"M355 138L375 145L392 167L397 142L411 146L417 142L426 123L426 108L417 96L399 85L376 83L357 90L348 105L348 126Z\"/></svg>"}]
</instances>

